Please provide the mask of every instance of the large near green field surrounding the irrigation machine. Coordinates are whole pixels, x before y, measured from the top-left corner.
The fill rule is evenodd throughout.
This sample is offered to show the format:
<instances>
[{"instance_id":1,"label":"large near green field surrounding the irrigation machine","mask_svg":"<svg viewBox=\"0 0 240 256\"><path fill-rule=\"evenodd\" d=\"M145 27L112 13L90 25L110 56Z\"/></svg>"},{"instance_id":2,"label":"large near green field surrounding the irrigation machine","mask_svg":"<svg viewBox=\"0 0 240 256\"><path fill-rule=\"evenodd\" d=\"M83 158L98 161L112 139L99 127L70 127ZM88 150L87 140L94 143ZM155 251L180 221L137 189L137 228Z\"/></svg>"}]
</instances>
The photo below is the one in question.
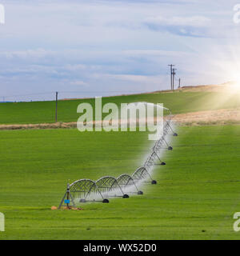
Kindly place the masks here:
<instances>
[{"instance_id":1,"label":"large near green field surrounding the irrigation machine","mask_svg":"<svg viewBox=\"0 0 240 256\"><path fill-rule=\"evenodd\" d=\"M144 195L64 211L50 206L68 179L132 173L150 148L147 134L1 131L0 239L239 239L240 126L178 133L167 165L154 171L158 184L144 186Z\"/></svg>"}]
</instances>

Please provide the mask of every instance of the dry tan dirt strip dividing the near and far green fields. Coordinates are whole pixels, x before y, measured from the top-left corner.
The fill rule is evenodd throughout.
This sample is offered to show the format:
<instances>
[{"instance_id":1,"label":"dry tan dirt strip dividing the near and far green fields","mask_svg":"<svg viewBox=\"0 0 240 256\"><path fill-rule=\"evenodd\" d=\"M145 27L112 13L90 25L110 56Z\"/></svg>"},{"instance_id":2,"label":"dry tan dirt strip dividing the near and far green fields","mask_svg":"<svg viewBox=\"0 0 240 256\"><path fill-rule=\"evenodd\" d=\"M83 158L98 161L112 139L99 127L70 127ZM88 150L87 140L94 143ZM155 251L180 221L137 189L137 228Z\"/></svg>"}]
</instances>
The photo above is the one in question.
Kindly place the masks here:
<instances>
[{"instance_id":1,"label":"dry tan dirt strip dividing the near and far green fields","mask_svg":"<svg viewBox=\"0 0 240 256\"><path fill-rule=\"evenodd\" d=\"M240 109L209 110L174 115L180 126L240 124ZM77 122L0 125L0 130L76 128Z\"/></svg>"}]
</instances>

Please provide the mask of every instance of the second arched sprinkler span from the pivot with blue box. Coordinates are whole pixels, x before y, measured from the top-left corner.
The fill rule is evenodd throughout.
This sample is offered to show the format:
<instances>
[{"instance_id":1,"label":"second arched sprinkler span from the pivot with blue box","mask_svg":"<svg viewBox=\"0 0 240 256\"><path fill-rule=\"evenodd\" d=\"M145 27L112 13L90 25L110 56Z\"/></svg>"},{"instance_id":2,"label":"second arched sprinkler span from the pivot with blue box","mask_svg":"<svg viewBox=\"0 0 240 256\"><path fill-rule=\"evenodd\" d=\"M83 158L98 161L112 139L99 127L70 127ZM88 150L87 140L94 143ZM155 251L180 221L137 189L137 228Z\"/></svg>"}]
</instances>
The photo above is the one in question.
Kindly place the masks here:
<instances>
[{"instance_id":1,"label":"second arched sprinkler span from the pivot with blue box","mask_svg":"<svg viewBox=\"0 0 240 256\"><path fill-rule=\"evenodd\" d=\"M98 186L98 190L101 191L102 194L106 195L106 197L129 198L129 195L124 194L122 187L114 177L105 176L99 178L98 181L96 181L96 185Z\"/></svg>"}]
</instances>

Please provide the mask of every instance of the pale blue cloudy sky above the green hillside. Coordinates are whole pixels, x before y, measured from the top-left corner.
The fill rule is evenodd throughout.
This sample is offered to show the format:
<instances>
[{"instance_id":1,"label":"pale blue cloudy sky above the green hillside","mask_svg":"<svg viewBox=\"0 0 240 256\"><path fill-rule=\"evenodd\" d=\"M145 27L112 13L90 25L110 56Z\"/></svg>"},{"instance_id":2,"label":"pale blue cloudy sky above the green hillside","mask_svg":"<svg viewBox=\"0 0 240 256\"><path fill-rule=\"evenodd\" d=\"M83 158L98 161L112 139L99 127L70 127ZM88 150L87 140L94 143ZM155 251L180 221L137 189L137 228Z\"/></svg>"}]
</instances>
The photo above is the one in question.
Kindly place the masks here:
<instances>
[{"instance_id":1,"label":"pale blue cloudy sky above the green hillside","mask_svg":"<svg viewBox=\"0 0 240 256\"><path fill-rule=\"evenodd\" d=\"M240 81L238 1L0 0L0 102Z\"/></svg>"}]
</instances>

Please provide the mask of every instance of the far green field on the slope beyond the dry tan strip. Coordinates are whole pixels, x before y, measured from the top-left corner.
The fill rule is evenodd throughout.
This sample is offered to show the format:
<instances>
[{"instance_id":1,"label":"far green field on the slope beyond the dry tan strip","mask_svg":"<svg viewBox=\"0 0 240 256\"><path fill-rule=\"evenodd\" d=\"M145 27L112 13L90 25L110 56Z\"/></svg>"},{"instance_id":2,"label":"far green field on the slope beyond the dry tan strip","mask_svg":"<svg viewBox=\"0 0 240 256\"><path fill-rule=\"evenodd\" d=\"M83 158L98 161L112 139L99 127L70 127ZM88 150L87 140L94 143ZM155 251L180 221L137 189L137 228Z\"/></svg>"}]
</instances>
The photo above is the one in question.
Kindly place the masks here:
<instances>
[{"instance_id":1,"label":"far green field on the slope beyond the dry tan strip","mask_svg":"<svg viewBox=\"0 0 240 256\"><path fill-rule=\"evenodd\" d=\"M225 100L226 98L226 100ZM77 114L78 104L90 102L94 106L94 99L68 100L58 102L58 121L76 122L81 114ZM216 92L175 92L156 94L137 94L102 98L102 104L153 102L164 103L174 114L187 113L198 110L215 110L236 108L240 106L239 94L226 95ZM219 103L220 102L220 103ZM0 104L0 124L24 124L54 122L55 102L16 102Z\"/></svg>"}]
</instances>

